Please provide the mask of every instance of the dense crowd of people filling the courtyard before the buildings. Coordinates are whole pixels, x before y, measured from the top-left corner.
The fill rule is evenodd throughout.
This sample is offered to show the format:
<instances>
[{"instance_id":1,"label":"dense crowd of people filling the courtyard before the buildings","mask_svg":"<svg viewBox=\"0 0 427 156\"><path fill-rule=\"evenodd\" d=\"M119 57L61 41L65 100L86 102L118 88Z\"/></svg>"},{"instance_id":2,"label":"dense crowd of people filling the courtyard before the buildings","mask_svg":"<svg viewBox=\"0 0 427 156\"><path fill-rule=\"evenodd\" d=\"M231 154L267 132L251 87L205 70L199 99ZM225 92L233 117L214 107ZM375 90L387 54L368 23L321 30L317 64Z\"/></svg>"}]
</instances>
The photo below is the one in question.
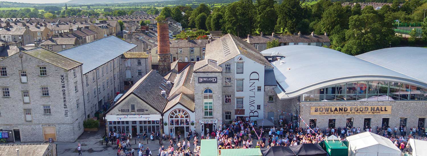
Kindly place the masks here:
<instances>
[{"instance_id":1,"label":"dense crowd of people filling the courtyard before the buildings","mask_svg":"<svg viewBox=\"0 0 427 156\"><path fill-rule=\"evenodd\" d=\"M375 130L375 129L374 129ZM325 136L339 136L341 140L345 140L347 136L351 136L364 131L377 133L386 138L389 138L394 144L402 151L408 149L407 143L409 138L427 140L427 133L424 128L409 128L405 126L391 128L388 126L377 127L374 132L371 127L365 128L356 127L339 127L339 128L326 128L320 130L319 127L301 128L293 122L285 122L280 119L278 124L273 127L266 128L263 125L256 125L253 121L244 121L240 118L235 119L231 123L219 125L211 132L207 129L207 134L200 136L200 139L216 139L219 149L232 149L232 148L264 148L271 146L293 146L304 143L322 142ZM194 135L194 137L193 137ZM398 136L400 135L400 136ZM143 139L162 139L169 140L167 147L160 147L158 149L158 156L199 156L200 147L199 135L190 130L187 137L182 139L181 134L176 137L170 135L160 134L159 132L152 132L149 136L146 133L142 134ZM137 134L137 139L140 139ZM107 137L106 137L107 138ZM132 139L129 133L108 133L108 140L111 145L117 145L117 156L151 156L152 152L149 147L144 149L143 144L140 142L138 148L130 148L129 140ZM193 139L193 142L190 140ZM193 146L193 147L191 147Z\"/></svg>"}]
</instances>

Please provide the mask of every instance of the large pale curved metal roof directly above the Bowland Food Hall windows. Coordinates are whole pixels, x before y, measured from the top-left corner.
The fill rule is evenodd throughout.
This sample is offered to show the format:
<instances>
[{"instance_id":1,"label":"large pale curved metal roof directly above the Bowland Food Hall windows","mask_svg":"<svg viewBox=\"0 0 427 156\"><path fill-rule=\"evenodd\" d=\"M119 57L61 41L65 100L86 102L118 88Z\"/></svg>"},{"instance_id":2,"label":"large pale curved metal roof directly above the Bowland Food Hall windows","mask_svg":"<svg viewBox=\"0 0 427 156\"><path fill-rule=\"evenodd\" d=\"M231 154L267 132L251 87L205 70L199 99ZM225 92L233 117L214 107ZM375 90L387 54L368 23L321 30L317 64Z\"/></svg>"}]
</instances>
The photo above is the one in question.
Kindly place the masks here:
<instances>
[{"instance_id":1,"label":"large pale curved metal roof directly above the Bowland Food Hall windows","mask_svg":"<svg viewBox=\"0 0 427 156\"><path fill-rule=\"evenodd\" d=\"M261 51L264 56L284 56L271 62L281 88L281 99L292 98L328 85L383 80L427 87L427 83L354 56L312 45L286 45Z\"/></svg>"}]
</instances>

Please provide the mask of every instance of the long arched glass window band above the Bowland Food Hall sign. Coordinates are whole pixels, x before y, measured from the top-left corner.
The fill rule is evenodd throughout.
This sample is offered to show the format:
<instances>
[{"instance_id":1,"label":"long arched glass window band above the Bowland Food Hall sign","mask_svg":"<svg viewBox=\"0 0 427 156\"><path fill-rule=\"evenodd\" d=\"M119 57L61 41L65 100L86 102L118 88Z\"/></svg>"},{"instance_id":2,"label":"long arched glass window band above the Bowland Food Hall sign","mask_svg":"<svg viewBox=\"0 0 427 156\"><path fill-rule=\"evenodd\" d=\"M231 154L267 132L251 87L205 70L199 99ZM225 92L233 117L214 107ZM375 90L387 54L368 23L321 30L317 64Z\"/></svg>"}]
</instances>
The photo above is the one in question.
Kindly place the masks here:
<instances>
[{"instance_id":1,"label":"long arched glass window band above the Bowland Food Hall sign","mask_svg":"<svg viewBox=\"0 0 427 156\"><path fill-rule=\"evenodd\" d=\"M330 85L301 96L303 101L427 100L427 88L400 82L360 81Z\"/></svg>"}]
</instances>

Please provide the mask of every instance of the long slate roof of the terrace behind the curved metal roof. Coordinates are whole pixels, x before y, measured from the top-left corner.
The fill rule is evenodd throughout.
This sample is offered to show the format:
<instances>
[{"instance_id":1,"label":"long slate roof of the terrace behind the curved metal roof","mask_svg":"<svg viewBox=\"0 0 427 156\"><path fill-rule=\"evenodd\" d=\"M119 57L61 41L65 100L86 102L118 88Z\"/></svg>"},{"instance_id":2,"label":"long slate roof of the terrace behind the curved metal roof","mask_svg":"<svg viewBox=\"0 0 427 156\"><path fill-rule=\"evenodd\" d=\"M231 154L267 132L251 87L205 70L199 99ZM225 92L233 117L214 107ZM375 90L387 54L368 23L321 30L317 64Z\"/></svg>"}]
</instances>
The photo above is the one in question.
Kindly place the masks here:
<instances>
[{"instance_id":1,"label":"long slate roof of the terrace behind the curved metal roof","mask_svg":"<svg viewBox=\"0 0 427 156\"><path fill-rule=\"evenodd\" d=\"M253 43L267 43L277 39L279 43L313 43L313 42L330 42L329 37L325 35L275 35L275 36L249 36L248 42Z\"/></svg>"}]
</instances>

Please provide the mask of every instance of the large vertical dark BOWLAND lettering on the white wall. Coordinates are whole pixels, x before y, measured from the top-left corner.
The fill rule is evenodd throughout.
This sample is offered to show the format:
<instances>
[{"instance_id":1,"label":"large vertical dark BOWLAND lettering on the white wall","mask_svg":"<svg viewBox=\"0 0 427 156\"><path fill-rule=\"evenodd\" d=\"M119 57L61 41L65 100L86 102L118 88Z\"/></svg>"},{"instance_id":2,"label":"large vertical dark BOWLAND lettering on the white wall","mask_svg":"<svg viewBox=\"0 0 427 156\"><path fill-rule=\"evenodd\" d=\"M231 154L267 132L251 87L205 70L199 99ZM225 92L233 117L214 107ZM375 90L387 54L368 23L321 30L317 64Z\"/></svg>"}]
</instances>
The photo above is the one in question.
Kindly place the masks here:
<instances>
[{"instance_id":1,"label":"large vertical dark BOWLAND lettering on the white wall","mask_svg":"<svg viewBox=\"0 0 427 156\"><path fill-rule=\"evenodd\" d=\"M249 117L259 117L259 113L257 111L257 105L255 104L255 92L257 91L256 82L260 81L260 74L257 72L252 72L249 74Z\"/></svg>"}]
</instances>

